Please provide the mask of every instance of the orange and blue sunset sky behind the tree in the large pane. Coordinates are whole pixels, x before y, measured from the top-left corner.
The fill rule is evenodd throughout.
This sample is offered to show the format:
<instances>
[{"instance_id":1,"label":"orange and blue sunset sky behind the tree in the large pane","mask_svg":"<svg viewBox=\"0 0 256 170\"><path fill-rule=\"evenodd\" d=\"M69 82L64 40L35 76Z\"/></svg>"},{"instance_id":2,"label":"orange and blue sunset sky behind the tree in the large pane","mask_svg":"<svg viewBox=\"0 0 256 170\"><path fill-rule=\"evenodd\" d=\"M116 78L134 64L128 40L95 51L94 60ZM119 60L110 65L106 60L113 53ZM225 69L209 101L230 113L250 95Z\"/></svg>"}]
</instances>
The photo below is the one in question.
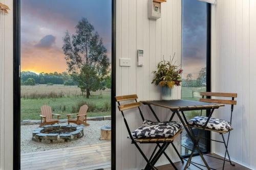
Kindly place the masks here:
<instances>
[{"instance_id":1,"label":"orange and blue sunset sky behind the tree in the large pane","mask_svg":"<svg viewBox=\"0 0 256 170\"><path fill-rule=\"evenodd\" d=\"M22 71L67 71L62 53L62 37L74 33L85 17L103 39L111 57L111 0L22 0L21 68Z\"/></svg>"}]
</instances>

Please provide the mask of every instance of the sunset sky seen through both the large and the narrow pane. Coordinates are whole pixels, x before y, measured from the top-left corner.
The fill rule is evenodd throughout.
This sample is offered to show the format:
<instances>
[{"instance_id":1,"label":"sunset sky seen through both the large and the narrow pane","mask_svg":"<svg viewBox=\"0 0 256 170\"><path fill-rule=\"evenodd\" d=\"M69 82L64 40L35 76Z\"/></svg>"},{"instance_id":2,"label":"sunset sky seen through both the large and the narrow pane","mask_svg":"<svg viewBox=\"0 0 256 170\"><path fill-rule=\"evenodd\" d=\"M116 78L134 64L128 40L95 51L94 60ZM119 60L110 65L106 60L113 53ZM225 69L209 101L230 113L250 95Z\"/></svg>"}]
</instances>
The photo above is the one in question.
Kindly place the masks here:
<instances>
[{"instance_id":1,"label":"sunset sky seen through both the large and the narrow pane","mask_svg":"<svg viewBox=\"0 0 256 170\"><path fill-rule=\"evenodd\" d=\"M62 37L86 17L103 38L111 56L111 0L22 0L22 71L62 72L67 70L62 53ZM194 79L206 65L206 3L183 0L182 67L183 76Z\"/></svg>"}]
</instances>

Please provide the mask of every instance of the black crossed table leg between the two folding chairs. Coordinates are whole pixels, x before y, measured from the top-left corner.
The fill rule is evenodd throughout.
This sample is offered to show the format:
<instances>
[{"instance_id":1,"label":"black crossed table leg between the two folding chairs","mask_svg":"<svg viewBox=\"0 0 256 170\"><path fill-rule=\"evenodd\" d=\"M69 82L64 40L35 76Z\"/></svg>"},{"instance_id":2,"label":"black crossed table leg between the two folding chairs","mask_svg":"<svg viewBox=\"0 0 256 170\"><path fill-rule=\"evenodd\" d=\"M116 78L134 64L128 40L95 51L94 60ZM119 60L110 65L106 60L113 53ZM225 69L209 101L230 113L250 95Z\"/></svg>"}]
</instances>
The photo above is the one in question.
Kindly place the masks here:
<instances>
[{"instance_id":1,"label":"black crossed table leg between the two folding chairs","mask_svg":"<svg viewBox=\"0 0 256 170\"><path fill-rule=\"evenodd\" d=\"M199 146L198 146L198 141L199 141L199 140L197 141L196 136L194 135L192 129L191 129L190 127L188 127L187 124L185 124L185 122L187 122L187 119L186 119L184 113L183 113L182 115L183 115L183 118L184 118L185 122L184 122L184 120L182 119L182 117L181 117L179 111L176 111L176 113L177 113L177 115L178 115L178 117L179 117L179 119L180 119L180 122L181 122L182 125L184 126L184 129L186 130L188 136L190 137L190 139L191 139L192 142L194 143L193 152L194 152L194 150L196 149L196 150L198 151L200 157L202 158L202 160L203 160L205 166L207 167L207 169L210 169L209 165L207 164L206 160L204 159L204 157L203 157L203 155L202 155L202 153L201 153L201 151L200 151L200 148L199 148ZM193 154L194 154L193 152L191 153L190 157L193 156ZM190 157L189 157L189 158L190 158ZM188 159L186 165L188 165L190 161L191 161L191 159L190 159L190 160ZM186 168L187 168L187 166L185 166L184 170L185 170Z\"/></svg>"}]
</instances>

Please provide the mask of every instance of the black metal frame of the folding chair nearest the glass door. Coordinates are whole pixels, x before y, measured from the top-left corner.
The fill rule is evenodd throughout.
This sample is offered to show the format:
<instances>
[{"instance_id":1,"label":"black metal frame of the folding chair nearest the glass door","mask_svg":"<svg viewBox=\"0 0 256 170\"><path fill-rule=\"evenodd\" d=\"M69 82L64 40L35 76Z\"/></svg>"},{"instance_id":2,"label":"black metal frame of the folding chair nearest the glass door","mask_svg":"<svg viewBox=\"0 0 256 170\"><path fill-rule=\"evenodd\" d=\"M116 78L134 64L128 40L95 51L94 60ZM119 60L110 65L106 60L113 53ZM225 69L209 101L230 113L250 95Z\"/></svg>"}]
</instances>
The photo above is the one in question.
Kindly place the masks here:
<instances>
[{"instance_id":1,"label":"black metal frame of the folding chair nearest the glass door","mask_svg":"<svg viewBox=\"0 0 256 170\"><path fill-rule=\"evenodd\" d=\"M137 102L137 100L135 99L135 102ZM120 106L120 102L117 102L118 103L118 106ZM148 105L150 107L150 109L152 110L152 113L154 114L155 118L157 119L157 122L160 122L159 118L157 117L156 113L154 112L154 110L152 109L152 107L150 105ZM140 112L140 115L141 115L141 119L144 121L144 116L141 112L141 109L140 107L138 107L139 109L139 112ZM135 147L139 150L140 154L142 155L142 157L145 159L145 161L147 162L144 170L151 170L151 169L158 169L155 167L155 164L156 162L158 161L158 159L164 154L164 156L168 159L168 161L170 162L170 164L172 164L172 166L174 167L175 170L178 170L178 168L175 166L175 164L173 163L173 161L168 157L168 155L165 153L165 150L167 149L168 145L169 144L172 144L173 148L175 149L175 152L177 153L178 157L180 158L181 162L183 163L183 158L180 156L177 148L175 147L173 141L156 141L156 142L143 142L143 143L151 143L151 144L154 144L156 143L156 147L152 153L152 155L150 156L150 159L147 159L146 155L143 153L143 151L141 150L141 148L139 147L138 143L134 140L133 136L132 136L132 133L131 133L131 130L129 128L129 125L127 123L127 120L124 116L124 113L123 111L121 111L121 114L122 114L122 117L123 117L123 120L124 120L124 124L125 124L125 127L129 133L129 137L130 139L132 140L132 144L135 144ZM162 143L162 145L160 145L160 143ZM159 148L159 150L157 151L156 153L156 150L157 148Z\"/></svg>"}]
</instances>

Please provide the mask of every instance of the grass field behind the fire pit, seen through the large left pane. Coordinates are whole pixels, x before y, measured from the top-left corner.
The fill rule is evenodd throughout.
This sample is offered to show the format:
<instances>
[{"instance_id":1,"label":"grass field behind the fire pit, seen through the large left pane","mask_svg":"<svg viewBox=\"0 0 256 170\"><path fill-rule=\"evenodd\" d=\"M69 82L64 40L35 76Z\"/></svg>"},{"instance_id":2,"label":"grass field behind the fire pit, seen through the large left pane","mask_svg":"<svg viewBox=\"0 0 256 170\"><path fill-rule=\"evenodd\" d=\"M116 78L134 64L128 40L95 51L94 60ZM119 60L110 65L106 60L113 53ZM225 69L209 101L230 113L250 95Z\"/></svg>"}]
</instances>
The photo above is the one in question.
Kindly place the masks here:
<instances>
[{"instance_id":1,"label":"grass field behind the fire pit, seen through the large left pane","mask_svg":"<svg viewBox=\"0 0 256 170\"><path fill-rule=\"evenodd\" d=\"M44 98L40 99L36 96L40 94L63 93L61 98ZM88 112L88 116L105 116L111 115L111 90L106 89L102 92L92 92L90 99L82 96L81 91L76 86L63 85L38 85L38 86L22 86L21 87L21 120L25 119L40 119L40 107L49 105L52 107L53 113L61 114L61 119L66 119L66 114L74 112L77 109L78 103L89 103L94 108L94 111ZM100 94L102 93L102 94ZM89 106L89 107L90 107Z\"/></svg>"}]
</instances>

